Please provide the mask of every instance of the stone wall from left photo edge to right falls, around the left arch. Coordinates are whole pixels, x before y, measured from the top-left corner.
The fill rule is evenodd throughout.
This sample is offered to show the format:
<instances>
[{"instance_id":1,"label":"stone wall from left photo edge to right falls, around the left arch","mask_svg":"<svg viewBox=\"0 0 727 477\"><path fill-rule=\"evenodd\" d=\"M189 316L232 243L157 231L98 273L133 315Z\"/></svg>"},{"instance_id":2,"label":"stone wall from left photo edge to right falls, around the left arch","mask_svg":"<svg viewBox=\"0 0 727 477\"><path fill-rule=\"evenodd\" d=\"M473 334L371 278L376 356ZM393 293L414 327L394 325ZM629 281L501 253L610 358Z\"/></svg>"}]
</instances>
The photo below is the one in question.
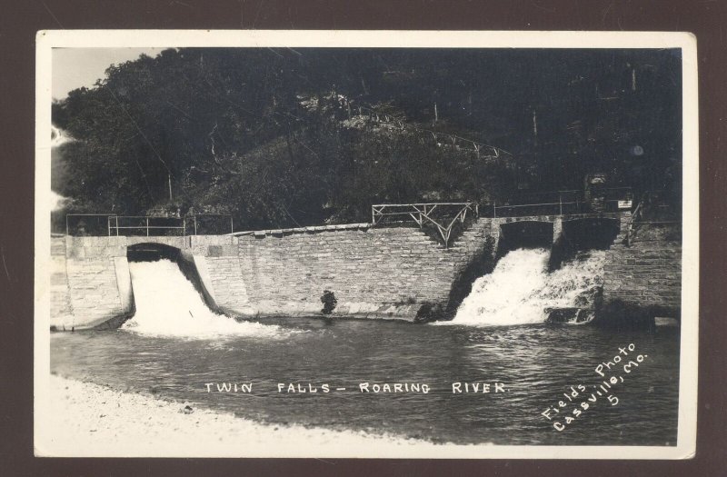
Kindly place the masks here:
<instances>
[{"instance_id":1,"label":"stone wall from left photo edge to right falls, around the left arch","mask_svg":"<svg viewBox=\"0 0 727 477\"><path fill-rule=\"evenodd\" d=\"M446 309L468 267L492 260L498 231L489 219L475 221L449 249L418 228L368 224L242 236L67 237L65 253L58 248L65 262L58 283L67 282L70 313L60 317L59 300L54 320L58 329L121 323L134 309L127 247L150 242L179 248L186 273L224 313L319 314L330 290L338 300L334 314L413 321L423 307Z\"/></svg>"}]
</instances>

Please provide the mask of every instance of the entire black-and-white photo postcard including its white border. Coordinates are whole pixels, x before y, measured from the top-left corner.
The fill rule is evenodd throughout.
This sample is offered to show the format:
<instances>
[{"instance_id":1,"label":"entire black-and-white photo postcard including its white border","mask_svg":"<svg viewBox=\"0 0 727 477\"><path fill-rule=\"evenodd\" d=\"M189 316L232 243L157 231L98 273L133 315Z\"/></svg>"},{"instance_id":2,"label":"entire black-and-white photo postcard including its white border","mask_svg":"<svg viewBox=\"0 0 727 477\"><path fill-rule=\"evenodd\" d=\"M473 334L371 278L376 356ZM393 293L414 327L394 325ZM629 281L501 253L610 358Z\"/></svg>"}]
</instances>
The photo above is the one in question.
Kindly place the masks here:
<instances>
[{"instance_id":1,"label":"entire black-and-white photo postcard including its white border","mask_svg":"<svg viewBox=\"0 0 727 477\"><path fill-rule=\"evenodd\" d=\"M684 459L682 33L37 35L35 454Z\"/></svg>"}]
</instances>

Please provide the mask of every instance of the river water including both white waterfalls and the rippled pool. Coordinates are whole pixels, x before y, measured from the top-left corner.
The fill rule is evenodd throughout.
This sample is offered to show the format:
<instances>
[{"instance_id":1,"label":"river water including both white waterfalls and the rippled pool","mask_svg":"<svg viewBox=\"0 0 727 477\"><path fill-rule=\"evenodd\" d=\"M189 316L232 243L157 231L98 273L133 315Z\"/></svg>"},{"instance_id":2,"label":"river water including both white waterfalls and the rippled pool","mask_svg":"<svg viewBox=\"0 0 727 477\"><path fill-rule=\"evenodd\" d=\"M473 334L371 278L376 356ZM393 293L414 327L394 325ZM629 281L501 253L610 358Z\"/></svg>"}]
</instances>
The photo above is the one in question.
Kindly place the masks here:
<instances>
[{"instance_id":1,"label":"river water including both white waterfalls and the rippled pool","mask_svg":"<svg viewBox=\"0 0 727 477\"><path fill-rule=\"evenodd\" d=\"M204 307L174 263L131 263L134 318L116 331L54 333L51 369L283 428L455 443L675 445L679 329L543 323L537 310L545 304L573 304L565 302L597 284L601 258L565 263L558 274L543 271L544 251L513 253L474 283L445 326L321 317L237 323ZM498 294L517 299L499 303ZM478 392L470 384L470 393L453 392L464 383Z\"/></svg>"}]
</instances>

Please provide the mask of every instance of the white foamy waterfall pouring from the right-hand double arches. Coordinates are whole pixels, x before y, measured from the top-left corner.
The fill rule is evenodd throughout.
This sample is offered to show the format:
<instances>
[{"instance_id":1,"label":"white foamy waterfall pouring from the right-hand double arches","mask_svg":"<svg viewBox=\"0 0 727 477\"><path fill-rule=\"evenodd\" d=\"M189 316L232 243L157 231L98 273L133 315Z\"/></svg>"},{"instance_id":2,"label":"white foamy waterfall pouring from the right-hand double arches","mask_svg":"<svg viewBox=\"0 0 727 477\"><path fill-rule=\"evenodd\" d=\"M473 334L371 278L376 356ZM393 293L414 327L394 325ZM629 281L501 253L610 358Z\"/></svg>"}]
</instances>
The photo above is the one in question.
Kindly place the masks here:
<instances>
[{"instance_id":1,"label":"white foamy waterfall pouring from the right-hand double arches","mask_svg":"<svg viewBox=\"0 0 727 477\"><path fill-rule=\"evenodd\" d=\"M543 323L548 308L576 306L584 292L603 283L605 252L590 251L548 273L550 251L507 253L493 273L478 278L452 322L474 326Z\"/></svg>"}]
</instances>

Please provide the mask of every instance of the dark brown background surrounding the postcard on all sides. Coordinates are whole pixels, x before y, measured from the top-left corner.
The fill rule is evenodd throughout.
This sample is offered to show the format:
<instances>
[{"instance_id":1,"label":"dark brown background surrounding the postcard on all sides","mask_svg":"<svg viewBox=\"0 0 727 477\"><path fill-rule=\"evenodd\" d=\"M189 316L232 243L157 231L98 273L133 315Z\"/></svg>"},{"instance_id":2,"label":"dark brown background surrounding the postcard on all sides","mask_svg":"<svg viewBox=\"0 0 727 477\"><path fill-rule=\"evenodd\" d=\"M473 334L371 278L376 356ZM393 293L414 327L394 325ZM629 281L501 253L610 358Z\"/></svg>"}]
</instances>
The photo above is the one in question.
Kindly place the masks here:
<instances>
[{"instance_id":1,"label":"dark brown background surrounding the postcard on all sides","mask_svg":"<svg viewBox=\"0 0 727 477\"><path fill-rule=\"evenodd\" d=\"M593 5L598 5L594 7ZM0 5L0 467L5 475L725 475L727 7L720 0L4 0ZM648 30L697 36L701 313L697 456L684 462L33 458L35 32L78 28ZM685 158L686 159L686 158ZM304 445L304 442L301 442ZM577 455L577 450L573 449Z\"/></svg>"}]
</instances>

